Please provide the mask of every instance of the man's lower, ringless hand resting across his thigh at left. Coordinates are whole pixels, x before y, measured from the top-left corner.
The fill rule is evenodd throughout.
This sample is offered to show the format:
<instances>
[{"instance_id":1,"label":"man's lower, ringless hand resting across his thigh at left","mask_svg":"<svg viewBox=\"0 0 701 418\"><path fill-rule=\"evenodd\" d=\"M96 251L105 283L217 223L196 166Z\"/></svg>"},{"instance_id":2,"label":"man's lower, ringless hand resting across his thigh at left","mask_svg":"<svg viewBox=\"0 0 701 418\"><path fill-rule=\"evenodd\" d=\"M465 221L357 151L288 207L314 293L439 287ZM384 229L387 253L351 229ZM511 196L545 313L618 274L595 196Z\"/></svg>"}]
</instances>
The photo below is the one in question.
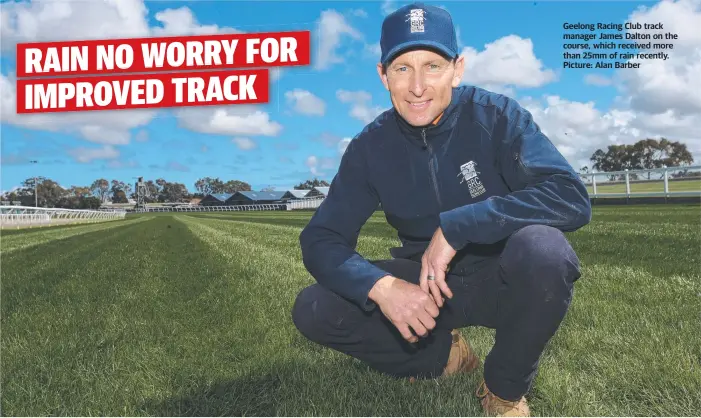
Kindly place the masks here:
<instances>
[{"instance_id":1,"label":"man's lower, ringless hand resting across his thigh at left","mask_svg":"<svg viewBox=\"0 0 701 418\"><path fill-rule=\"evenodd\" d=\"M428 293L406 280L385 276L370 289L368 297L410 343L419 341L417 335L425 337L436 326L434 318L438 317L438 306Z\"/></svg>"}]
</instances>

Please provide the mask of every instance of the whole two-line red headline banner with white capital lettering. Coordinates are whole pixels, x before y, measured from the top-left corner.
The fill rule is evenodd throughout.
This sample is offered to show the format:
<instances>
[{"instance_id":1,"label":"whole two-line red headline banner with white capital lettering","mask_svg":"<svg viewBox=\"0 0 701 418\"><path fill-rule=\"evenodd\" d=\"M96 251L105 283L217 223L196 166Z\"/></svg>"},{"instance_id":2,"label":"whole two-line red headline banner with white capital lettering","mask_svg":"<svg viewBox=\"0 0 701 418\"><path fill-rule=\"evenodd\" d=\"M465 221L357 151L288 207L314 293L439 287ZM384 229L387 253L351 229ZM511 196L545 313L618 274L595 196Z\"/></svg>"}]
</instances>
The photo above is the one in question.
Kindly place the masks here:
<instances>
[{"instance_id":1,"label":"whole two-line red headline banner with white capital lettering","mask_svg":"<svg viewBox=\"0 0 701 418\"><path fill-rule=\"evenodd\" d=\"M17 113L267 103L260 67L309 65L310 41L290 31L20 43Z\"/></svg>"}]
</instances>

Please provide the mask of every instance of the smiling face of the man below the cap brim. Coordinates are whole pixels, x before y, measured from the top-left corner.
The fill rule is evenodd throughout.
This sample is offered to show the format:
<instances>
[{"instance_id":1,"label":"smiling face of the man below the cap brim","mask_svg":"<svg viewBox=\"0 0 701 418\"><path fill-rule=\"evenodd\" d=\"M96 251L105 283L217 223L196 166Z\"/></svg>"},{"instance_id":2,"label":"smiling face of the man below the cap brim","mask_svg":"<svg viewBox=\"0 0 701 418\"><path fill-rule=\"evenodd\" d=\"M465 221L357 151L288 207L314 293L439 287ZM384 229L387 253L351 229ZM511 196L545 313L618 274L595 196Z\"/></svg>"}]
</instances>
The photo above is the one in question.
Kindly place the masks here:
<instances>
[{"instance_id":1,"label":"smiling face of the man below the cap brim","mask_svg":"<svg viewBox=\"0 0 701 418\"><path fill-rule=\"evenodd\" d=\"M428 50L405 52L377 72L389 91L394 108L409 124L433 122L450 104L453 88L460 85L464 69L461 56L453 63Z\"/></svg>"}]
</instances>

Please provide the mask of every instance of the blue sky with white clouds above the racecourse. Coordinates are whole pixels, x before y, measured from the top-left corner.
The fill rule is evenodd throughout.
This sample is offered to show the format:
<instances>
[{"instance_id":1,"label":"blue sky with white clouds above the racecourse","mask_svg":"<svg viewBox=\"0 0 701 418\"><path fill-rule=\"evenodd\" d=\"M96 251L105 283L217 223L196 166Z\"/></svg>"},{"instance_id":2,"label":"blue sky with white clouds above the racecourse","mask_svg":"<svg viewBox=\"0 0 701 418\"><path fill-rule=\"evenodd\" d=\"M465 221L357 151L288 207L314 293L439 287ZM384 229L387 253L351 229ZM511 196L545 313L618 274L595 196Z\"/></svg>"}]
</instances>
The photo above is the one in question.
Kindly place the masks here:
<instances>
[{"instance_id":1,"label":"blue sky with white clouds above the racecourse","mask_svg":"<svg viewBox=\"0 0 701 418\"><path fill-rule=\"evenodd\" d=\"M646 112L659 116L666 110L654 109L654 104L644 100L636 101L643 90L642 82L654 81L649 75L627 72L628 78L621 83L628 84L622 88L611 81L615 77L613 70L562 69L564 22L622 23L640 6L654 8L655 2L427 3L451 12L460 47L471 48L469 51L474 54L468 56L478 64L471 69L468 63L466 82L493 88L527 104L536 122L542 123L546 133L552 133L556 145L578 166L575 168L607 143L634 142L640 135L664 133L670 126L680 129L680 124L673 121L657 123L657 119L641 117ZM118 117L112 117L114 113L82 113L69 118L25 118L26 115L7 110L8 93L3 91L2 190L10 190L33 175L51 178L64 187L89 185L101 177L132 183L136 176L164 178L184 183L191 192L195 191L195 181L205 176L246 181L254 190L269 185L278 190L290 188L315 176L330 181L343 149L342 139L353 137L377 112L390 106L375 70L377 48L385 13L404 3L128 0L128 10L120 14L107 3L86 4L66 2L68 12L64 10L63 17L45 22L41 19L46 19L46 15L41 16L47 6L3 3L3 23L8 16L29 16L40 22L38 31L17 23L3 29L4 90L9 83L14 84L12 42L17 41L192 34L225 28L245 32L302 29L312 31L312 64L284 69L279 77L274 77L269 104L236 109L233 108L237 106L220 110L203 107L184 111L139 110ZM699 10L695 1L686 7ZM684 12L682 6L678 9L675 11ZM656 12L648 9L638 13ZM96 19L95 16L109 24L95 24L99 30L89 24L83 29L81 22ZM673 24L666 26L665 29L673 28ZM488 54L486 45L499 40L500 48L493 48ZM694 42L685 46L697 51L698 43ZM489 70L509 52L517 57L498 64L503 74ZM519 74L527 80L519 79ZM592 77L594 74L596 77ZM287 95L295 90L302 100L288 99ZM14 102L11 104L14 106ZM691 107L694 112L698 110L695 102ZM685 114L685 109L672 110L672 118ZM214 116L216 111L222 112L219 119ZM222 119L222 115L226 117ZM693 118L697 116L692 112ZM618 118L624 121L621 123L625 129L621 123L606 122ZM252 120L264 123L251 128ZM694 121L684 123L691 125ZM563 136L565 131L570 132L569 138ZM688 135L684 130L678 133L674 138ZM573 136L578 136L574 142ZM691 145L694 152L701 151L696 142ZM38 160L39 164L29 164L29 160Z\"/></svg>"}]
</instances>

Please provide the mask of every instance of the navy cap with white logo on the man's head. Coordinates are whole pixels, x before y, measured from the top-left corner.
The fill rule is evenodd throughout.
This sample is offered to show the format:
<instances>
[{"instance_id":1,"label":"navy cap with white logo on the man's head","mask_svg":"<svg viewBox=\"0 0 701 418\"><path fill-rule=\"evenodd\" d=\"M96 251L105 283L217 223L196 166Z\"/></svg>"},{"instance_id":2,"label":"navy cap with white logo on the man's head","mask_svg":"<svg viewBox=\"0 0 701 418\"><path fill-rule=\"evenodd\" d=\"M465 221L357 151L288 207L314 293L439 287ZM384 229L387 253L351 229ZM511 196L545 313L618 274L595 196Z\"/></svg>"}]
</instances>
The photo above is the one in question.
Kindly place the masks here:
<instances>
[{"instance_id":1,"label":"navy cap with white logo on the man's head","mask_svg":"<svg viewBox=\"0 0 701 418\"><path fill-rule=\"evenodd\" d=\"M408 49L424 47L449 58L458 55L453 19L445 9L423 3L403 6L382 22L380 61L386 65Z\"/></svg>"}]
</instances>

